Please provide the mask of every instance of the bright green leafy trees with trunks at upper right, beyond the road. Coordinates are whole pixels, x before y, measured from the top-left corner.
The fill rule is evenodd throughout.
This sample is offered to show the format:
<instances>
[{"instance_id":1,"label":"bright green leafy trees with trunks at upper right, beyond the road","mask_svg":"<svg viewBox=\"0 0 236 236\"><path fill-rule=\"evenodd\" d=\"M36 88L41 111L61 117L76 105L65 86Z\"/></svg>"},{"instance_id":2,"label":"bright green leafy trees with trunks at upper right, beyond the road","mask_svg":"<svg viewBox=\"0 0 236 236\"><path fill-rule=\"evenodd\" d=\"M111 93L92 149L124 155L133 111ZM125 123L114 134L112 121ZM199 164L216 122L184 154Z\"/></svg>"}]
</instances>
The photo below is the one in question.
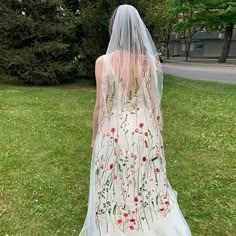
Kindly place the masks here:
<instances>
[{"instance_id":1,"label":"bright green leafy trees with trunks at upper right, beyond the road","mask_svg":"<svg viewBox=\"0 0 236 236\"><path fill-rule=\"evenodd\" d=\"M228 0L168 0L171 15L177 15L179 21L174 30L182 32L186 45L186 59L192 36L198 30L224 32L219 62L225 62L230 50L233 27L236 24L236 1Z\"/></svg>"}]
</instances>

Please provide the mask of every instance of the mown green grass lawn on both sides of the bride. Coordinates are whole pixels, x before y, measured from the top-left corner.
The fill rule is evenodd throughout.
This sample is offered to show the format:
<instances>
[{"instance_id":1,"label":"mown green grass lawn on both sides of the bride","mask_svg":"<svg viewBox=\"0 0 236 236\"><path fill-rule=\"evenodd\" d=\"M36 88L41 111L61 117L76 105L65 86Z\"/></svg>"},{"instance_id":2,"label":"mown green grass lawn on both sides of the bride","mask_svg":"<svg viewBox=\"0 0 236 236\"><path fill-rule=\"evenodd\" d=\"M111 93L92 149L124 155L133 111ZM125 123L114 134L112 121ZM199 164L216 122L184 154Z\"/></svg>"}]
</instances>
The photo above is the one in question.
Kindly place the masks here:
<instances>
[{"instance_id":1,"label":"mown green grass lawn on both sides of the bride","mask_svg":"<svg viewBox=\"0 0 236 236\"><path fill-rule=\"evenodd\" d=\"M0 82L0 235L78 235L95 87ZM236 86L165 76L167 176L193 236L235 236ZM234 191L235 192L235 191Z\"/></svg>"}]
</instances>

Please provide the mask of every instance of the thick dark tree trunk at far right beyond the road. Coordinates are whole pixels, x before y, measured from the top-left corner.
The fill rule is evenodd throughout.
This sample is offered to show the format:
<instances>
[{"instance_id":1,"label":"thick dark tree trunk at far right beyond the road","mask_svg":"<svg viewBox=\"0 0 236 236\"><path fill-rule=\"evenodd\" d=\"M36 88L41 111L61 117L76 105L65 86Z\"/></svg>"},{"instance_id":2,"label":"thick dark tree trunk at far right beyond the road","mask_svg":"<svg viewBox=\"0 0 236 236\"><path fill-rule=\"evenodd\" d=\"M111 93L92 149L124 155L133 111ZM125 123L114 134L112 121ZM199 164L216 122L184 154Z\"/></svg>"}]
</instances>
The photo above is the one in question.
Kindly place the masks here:
<instances>
[{"instance_id":1,"label":"thick dark tree trunk at far right beyond the road","mask_svg":"<svg viewBox=\"0 0 236 236\"><path fill-rule=\"evenodd\" d=\"M234 29L233 24L229 24L225 28L224 43L223 43L220 58L218 60L219 63L225 63L226 59L229 55L230 43L231 43L232 36L233 36L233 29Z\"/></svg>"}]
</instances>

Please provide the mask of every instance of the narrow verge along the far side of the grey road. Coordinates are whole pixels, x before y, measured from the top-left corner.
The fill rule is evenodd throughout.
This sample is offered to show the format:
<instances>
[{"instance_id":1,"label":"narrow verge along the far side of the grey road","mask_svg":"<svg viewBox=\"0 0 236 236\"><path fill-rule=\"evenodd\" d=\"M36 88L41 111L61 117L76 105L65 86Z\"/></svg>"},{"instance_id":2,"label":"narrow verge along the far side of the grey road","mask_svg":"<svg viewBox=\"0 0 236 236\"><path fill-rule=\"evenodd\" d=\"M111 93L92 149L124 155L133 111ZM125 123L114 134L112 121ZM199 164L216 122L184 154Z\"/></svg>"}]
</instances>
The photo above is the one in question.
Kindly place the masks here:
<instances>
[{"instance_id":1,"label":"narrow verge along the far side of the grey road","mask_svg":"<svg viewBox=\"0 0 236 236\"><path fill-rule=\"evenodd\" d=\"M183 63L190 65L212 65L212 66L236 66L236 58L227 59L226 63L218 63L218 59L215 58L189 58L185 61L185 57L170 57L168 60L164 59L164 63Z\"/></svg>"}]
</instances>

